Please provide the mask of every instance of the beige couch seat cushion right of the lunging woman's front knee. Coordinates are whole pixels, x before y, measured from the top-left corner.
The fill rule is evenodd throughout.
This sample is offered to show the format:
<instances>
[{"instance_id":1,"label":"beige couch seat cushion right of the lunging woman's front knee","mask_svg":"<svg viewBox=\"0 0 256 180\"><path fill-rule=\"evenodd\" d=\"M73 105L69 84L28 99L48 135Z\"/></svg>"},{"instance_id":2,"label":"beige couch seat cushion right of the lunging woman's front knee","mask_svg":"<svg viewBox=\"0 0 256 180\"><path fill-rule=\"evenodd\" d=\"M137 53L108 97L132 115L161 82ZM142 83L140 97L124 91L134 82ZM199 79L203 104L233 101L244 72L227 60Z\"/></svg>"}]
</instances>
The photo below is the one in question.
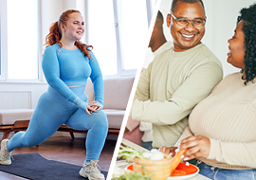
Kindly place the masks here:
<instances>
[{"instance_id":1,"label":"beige couch seat cushion right of the lunging woman's front knee","mask_svg":"<svg viewBox=\"0 0 256 180\"><path fill-rule=\"evenodd\" d=\"M120 129L125 111L117 109L103 109L103 112L106 114L108 119L108 128Z\"/></svg>"}]
</instances>

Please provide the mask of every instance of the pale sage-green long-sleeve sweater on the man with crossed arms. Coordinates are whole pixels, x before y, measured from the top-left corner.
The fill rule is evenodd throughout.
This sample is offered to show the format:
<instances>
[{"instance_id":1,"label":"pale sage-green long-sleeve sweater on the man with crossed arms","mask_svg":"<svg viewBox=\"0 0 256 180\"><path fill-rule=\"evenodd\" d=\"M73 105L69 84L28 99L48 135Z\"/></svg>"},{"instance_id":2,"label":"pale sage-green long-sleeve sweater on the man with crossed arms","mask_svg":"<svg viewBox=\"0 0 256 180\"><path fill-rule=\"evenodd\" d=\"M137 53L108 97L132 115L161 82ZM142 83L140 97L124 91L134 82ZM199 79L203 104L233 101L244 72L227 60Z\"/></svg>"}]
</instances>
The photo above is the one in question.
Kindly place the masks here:
<instances>
[{"instance_id":1,"label":"pale sage-green long-sleeve sweater on the man with crossed arms","mask_svg":"<svg viewBox=\"0 0 256 180\"><path fill-rule=\"evenodd\" d=\"M192 108L222 80L222 65L203 44L184 52L173 47L141 74L130 116L153 123L153 146L174 146Z\"/></svg>"}]
</instances>

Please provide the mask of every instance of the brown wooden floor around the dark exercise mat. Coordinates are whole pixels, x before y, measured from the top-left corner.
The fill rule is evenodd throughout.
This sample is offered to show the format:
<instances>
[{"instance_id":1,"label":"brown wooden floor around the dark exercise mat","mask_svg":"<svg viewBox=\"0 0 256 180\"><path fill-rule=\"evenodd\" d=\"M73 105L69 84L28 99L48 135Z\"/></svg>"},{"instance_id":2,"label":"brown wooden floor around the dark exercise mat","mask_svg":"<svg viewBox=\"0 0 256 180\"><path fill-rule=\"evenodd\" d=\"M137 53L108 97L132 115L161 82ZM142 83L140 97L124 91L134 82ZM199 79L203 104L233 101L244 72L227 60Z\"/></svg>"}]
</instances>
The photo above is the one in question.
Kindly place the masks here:
<instances>
[{"instance_id":1,"label":"brown wooden floor around the dark exercise mat","mask_svg":"<svg viewBox=\"0 0 256 180\"><path fill-rule=\"evenodd\" d=\"M115 150L117 140L107 139L103 147L99 165L102 171L108 171ZM39 153L49 160L61 161L64 163L82 166L85 159L85 138L76 137L50 137L39 147L19 148L12 154ZM0 171L1 180L27 180L26 178L11 175Z\"/></svg>"}]
</instances>

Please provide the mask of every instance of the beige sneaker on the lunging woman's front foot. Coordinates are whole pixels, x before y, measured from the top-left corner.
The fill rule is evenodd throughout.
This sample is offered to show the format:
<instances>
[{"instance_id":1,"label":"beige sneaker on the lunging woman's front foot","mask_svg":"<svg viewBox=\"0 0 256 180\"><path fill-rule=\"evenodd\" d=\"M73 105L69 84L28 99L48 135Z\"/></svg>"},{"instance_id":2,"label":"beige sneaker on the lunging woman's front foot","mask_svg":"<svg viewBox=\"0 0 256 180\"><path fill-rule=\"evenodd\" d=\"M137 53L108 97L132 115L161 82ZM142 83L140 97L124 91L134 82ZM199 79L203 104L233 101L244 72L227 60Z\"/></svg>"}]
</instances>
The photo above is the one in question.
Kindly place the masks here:
<instances>
[{"instance_id":1,"label":"beige sneaker on the lunging woman's front foot","mask_svg":"<svg viewBox=\"0 0 256 180\"><path fill-rule=\"evenodd\" d=\"M101 173L101 171L98 169L98 160L91 160L90 163L86 163L82 166L81 171L79 171L79 174L82 177L87 177L89 180L105 180L104 175Z\"/></svg>"}]
</instances>

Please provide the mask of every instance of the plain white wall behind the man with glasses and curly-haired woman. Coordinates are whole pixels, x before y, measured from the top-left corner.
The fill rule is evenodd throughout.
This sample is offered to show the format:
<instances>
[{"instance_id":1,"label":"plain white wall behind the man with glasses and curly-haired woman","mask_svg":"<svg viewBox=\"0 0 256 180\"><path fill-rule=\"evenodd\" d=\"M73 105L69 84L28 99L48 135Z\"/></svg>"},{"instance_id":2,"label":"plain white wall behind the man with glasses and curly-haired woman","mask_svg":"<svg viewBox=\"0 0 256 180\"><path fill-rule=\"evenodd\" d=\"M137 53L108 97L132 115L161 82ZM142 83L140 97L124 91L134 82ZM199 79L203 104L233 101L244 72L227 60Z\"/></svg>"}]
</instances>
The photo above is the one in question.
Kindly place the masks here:
<instances>
[{"instance_id":1,"label":"plain white wall behind the man with glasses and curly-haired woman","mask_svg":"<svg viewBox=\"0 0 256 180\"><path fill-rule=\"evenodd\" d=\"M236 27L236 19L239 11L246 8L255 0L203 0L206 14L206 34L202 42L208 45L210 50L219 58L224 67L224 76L237 72L239 69L227 63L227 53L229 51L228 40L233 35ZM170 12L172 0L162 0L159 10L166 19ZM170 28L164 26L164 33L168 40L172 41Z\"/></svg>"}]
</instances>

